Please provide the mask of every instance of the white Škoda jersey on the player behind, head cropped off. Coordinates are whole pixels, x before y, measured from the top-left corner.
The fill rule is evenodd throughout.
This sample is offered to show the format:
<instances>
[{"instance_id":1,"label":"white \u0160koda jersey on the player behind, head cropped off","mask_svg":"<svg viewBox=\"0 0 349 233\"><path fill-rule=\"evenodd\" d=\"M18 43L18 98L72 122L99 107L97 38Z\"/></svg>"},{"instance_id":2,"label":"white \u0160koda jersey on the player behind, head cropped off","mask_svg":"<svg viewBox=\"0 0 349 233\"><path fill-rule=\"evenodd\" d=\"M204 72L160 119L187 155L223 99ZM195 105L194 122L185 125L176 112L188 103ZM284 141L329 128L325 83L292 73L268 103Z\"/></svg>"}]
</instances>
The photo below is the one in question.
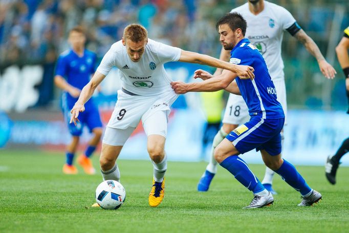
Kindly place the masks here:
<instances>
[{"instance_id":1,"label":"white \u0160koda jersey on the player behind, head cropped off","mask_svg":"<svg viewBox=\"0 0 349 233\"><path fill-rule=\"evenodd\" d=\"M257 15L251 13L248 3L234 8L247 22L245 38L248 38L263 54L272 80L283 79L281 43L283 32L296 20L285 8L264 1L264 9Z\"/></svg>"}]
</instances>

